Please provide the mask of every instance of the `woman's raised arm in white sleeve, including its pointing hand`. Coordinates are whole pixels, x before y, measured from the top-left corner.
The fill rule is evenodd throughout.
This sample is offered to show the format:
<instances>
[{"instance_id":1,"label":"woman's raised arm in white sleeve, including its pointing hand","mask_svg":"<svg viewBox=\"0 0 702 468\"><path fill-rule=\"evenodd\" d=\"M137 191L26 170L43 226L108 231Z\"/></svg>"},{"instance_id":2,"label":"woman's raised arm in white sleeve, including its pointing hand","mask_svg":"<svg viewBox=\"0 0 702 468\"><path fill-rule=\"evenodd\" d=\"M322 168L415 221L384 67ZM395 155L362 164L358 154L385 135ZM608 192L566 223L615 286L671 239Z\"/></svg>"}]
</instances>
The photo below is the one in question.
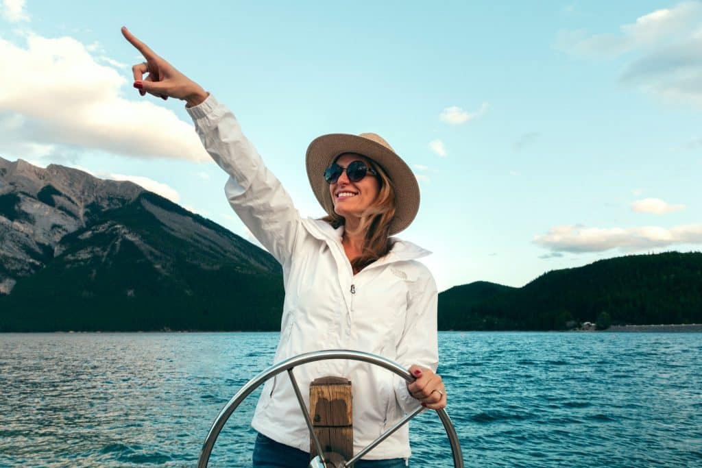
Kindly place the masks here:
<instances>
[{"instance_id":1,"label":"woman's raised arm in white sleeve, including its pointing hand","mask_svg":"<svg viewBox=\"0 0 702 468\"><path fill-rule=\"evenodd\" d=\"M230 175L225 186L227 200L256 239L284 265L291 258L300 229L299 215L279 180L267 170L256 148L241 133L234 114L126 27L121 31L145 59L132 67L134 87L140 95L149 93L187 102L187 112L205 149Z\"/></svg>"}]
</instances>

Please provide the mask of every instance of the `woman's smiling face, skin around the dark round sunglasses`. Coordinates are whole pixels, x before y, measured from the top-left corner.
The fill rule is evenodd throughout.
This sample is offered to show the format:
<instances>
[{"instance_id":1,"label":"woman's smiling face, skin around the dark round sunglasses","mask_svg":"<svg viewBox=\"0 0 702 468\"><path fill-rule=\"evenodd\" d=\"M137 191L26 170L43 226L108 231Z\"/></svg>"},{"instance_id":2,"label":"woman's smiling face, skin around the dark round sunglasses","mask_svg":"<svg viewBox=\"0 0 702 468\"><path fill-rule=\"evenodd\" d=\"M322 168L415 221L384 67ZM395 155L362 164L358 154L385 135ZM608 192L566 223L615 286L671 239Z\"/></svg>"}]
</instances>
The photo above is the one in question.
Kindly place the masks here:
<instances>
[{"instance_id":1,"label":"woman's smiling face, skin around the dark round sunglasses","mask_svg":"<svg viewBox=\"0 0 702 468\"><path fill-rule=\"evenodd\" d=\"M345 153L336 159L336 163L343 168L347 168L353 161L363 161L366 166L371 167L369 159L360 154ZM378 192L380 183L370 172L358 182L351 182L346 171L343 171L338 180L329 185L334 211L347 220L350 217L360 218L364 210L376 199Z\"/></svg>"}]
</instances>

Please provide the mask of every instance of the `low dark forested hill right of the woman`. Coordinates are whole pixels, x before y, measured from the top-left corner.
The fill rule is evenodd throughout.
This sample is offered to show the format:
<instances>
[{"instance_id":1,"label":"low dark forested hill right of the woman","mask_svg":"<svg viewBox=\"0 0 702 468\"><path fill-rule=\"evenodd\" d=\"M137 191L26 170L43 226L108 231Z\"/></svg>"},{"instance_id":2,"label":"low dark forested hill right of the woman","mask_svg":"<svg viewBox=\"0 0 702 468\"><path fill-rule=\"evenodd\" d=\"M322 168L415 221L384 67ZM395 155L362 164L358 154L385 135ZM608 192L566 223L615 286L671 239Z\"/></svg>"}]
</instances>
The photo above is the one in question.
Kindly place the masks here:
<instances>
[{"instance_id":1,"label":"low dark forested hill right of the woman","mask_svg":"<svg viewBox=\"0 0 702 468\"><path fill-rule=\"evenodd\" d=\"M522 288L439 294L441 330L564 330L585 321L702 323L702 253L629 255L555 270Z\"/></svg>"}]
</instances>

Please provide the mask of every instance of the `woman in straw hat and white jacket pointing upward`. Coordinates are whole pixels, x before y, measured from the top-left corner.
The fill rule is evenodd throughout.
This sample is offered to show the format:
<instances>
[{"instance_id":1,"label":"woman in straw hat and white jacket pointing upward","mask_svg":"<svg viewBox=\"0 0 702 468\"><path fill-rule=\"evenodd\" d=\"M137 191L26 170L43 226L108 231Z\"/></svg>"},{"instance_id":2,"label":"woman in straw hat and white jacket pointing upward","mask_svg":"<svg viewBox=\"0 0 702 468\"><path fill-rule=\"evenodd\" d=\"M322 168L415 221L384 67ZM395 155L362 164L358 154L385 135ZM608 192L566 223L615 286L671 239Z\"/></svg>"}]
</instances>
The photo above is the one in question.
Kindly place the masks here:
<instances>
[{"instance_id":1,"label":"woman in straw hat and white jacket pointing upward","mask_svg":"<svg viewBox=\"0 0 702 468\"><path fill-rule=\"evenodd\" d=\"M437 288L416 262L428 252L390 238L410 224L419 206L406 163L372 133L315 139L307 149L307 176L328 216L302 219L234 115L126 28L122 33L145 58L133 67L135 88L186 101L204 147L230 175L225 193L232 208L283 266L286 295L274 360L357 349L397 361L416 377L408 385L367 363L318 361L295 370L303 394L317 377L352 381L355 452L419 404L444 408L445 388L435 373ZM307 466L309 434L286 377L266 382L251 425L260 433L254 466ZM404 466L408 438L405 425L357 466Z\"/></svg>"}]
</instances>

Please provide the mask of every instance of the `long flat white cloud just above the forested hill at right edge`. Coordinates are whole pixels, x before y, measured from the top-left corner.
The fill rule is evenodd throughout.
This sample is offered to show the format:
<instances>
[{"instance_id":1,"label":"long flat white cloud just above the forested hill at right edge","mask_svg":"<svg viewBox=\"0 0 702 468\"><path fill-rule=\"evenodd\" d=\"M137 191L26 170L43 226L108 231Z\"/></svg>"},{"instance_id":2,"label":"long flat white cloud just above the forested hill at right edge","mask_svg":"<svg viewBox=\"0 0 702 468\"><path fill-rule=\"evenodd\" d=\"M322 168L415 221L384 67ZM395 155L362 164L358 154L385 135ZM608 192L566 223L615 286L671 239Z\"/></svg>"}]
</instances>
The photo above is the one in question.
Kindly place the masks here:
<instances>
[{"instance_id":1,"label":"long flat white cloud just above the forested hill at right edge","mask_svg":"<svg viewBox=\"0 0 702 468\"><path fill-rule=\"evenodd\" d=\"M582 225L556 226L534 236L534 243L554 252L602 252L612 248L645 250L680 243L702 243L702 224L670 229L656 226L598 228Z\"/></svg>"}]
</instances>

